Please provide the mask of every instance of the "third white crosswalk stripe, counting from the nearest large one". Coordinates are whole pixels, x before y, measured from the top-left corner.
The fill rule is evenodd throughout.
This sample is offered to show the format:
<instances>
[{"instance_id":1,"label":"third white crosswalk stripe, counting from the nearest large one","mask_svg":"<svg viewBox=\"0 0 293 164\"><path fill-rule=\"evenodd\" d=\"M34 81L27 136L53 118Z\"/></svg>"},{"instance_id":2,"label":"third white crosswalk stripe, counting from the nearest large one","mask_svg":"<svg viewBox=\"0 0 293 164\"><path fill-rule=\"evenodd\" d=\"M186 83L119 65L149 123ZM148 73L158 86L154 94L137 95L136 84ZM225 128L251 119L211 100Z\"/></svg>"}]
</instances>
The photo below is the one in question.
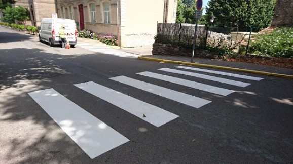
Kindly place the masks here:
<instances>
[{"instance_id":1,"label":"third white crosswalk stripe, counting from the nearest large one","mask_svg":"<svg viewBox=\"0 0 293 164\"><path fill-rule=\"evenodd\" d=\"M139 80L126 77L126 76L117 76L117 77L112 77L110 79L141 89L143 91L147 91L159 96L166 97L168 99L171 99L171 100L174 100L174 101L177 101L177 102L180 102L195 108L202 107L211 102L202 98L198 98L198 97L191 96L182 92L170 90L168 88L156 86L156 85L146 83L144 81L139 81Z\"/></svg>"}]
</instances>

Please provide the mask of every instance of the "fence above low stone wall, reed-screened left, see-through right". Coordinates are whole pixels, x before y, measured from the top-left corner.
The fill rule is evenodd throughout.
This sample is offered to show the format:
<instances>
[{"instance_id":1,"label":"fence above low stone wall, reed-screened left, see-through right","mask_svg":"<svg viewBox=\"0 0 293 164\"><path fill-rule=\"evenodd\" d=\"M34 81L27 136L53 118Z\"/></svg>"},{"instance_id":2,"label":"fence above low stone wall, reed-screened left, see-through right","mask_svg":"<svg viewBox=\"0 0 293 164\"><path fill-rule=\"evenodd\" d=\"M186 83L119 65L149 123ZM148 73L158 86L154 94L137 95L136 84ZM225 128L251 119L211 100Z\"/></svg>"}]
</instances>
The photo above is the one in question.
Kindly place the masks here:
<instances>
[{"instance_id":1,"label":"fence above low stone wall, reed-screened left, see-through right","mask_svg":"<svg viewBox=\"0 0 293 164\"><path fill-rule=\"evenodd\" d=\"M155 42L180 47L192 47L194 31L194 24L158 23ZM226 48L233 49L234 52L243 51L243 49L249 49L249 39L251 34L255 34L250 31L251 28L239 31L237 27L207 27L198 25L196 46L225 46Z\"/></svg>"}]
</instances>

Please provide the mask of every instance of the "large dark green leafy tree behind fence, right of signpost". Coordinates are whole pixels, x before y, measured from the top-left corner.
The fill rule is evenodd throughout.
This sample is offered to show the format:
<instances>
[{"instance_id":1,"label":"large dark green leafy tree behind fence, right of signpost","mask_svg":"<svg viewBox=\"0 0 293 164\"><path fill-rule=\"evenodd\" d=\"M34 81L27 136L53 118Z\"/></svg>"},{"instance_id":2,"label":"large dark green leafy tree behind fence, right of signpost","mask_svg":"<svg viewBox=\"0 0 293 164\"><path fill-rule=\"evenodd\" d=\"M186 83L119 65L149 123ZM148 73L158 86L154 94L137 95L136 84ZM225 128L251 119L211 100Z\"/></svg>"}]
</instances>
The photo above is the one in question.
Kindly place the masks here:
<instances>
[{"instance_id":1,"label":"large dark green leafy tree behind fence, right of signpost","mask_svg":"<svg viewBox=\"0 0 293 164\"><path fill-rule=\"evenodd\" d=\"M235 27L259 31L270 26L276 0L210 0L206 9L207 17L215 18L218 27Z\"/></svg>"}]
</instances>

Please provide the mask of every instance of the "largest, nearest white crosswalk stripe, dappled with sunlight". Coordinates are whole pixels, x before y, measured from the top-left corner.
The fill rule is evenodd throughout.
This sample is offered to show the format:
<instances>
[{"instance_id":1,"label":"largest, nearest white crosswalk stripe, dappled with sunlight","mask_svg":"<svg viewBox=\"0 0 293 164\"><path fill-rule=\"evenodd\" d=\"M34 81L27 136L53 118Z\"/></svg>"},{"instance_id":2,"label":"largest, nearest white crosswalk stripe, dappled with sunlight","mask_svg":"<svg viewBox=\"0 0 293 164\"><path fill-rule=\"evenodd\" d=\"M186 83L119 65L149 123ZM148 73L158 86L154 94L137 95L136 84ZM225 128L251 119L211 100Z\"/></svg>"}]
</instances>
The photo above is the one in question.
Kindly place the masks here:
<instances>
[{"instance_id":1,"label":"largest, nearest white crosswalk stripe, dappled with sunlight","mask_svg":"<svg viewBox=\"0 0 293 164\"><path fill-rule=\"evenodd\" d=\"M54 89L28 94L92 159L129 141Z\"/></svg>"}]
</instances>

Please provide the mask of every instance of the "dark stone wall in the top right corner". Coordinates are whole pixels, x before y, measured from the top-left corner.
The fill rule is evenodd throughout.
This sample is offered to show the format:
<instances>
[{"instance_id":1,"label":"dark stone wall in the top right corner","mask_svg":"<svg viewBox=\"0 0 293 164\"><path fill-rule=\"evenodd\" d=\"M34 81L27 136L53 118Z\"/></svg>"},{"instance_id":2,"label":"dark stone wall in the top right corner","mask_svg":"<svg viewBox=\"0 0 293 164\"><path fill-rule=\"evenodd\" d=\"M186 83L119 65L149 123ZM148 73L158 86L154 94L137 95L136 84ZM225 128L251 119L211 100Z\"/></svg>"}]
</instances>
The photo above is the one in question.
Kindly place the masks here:
<instances>
[{"instance_id":1,"label":"dark stone wall in the top right corner","mask_svg":"<svg viewBox=\"0 0 293 164\"><path fill-rule=\"evenodd\" d=\"M272 27L293 27L292 0L277 0Z\"/></svg>"}]
</instances>

